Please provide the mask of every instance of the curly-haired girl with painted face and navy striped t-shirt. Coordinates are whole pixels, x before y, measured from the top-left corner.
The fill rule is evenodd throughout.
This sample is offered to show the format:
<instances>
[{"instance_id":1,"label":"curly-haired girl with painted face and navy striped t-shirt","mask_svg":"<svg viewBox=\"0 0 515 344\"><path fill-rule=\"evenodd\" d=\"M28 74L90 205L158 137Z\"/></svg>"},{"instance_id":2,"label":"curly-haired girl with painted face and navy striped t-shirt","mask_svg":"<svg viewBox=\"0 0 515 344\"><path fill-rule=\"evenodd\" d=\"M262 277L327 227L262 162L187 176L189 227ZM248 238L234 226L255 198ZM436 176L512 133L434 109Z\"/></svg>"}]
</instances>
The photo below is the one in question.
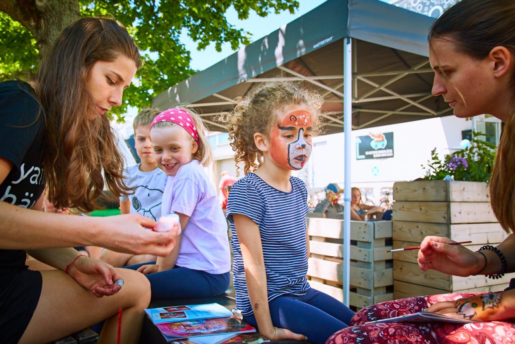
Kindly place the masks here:
<instances>
[{"instance_id":1,"label":"curly-haired girl with painted face and navy striped t-shirt","mask_svg":"<svg viewBox=\"0 0 515 344\"><path fill-rule=\"evenodd\" d=\"M310 158L320 106L320 95L275 83L251 91L223 117L246 174L227 204L236 307L271 340L322 344L354 315L306 281L307 190L291 171Z\"/></svg>"}]
</instances>

